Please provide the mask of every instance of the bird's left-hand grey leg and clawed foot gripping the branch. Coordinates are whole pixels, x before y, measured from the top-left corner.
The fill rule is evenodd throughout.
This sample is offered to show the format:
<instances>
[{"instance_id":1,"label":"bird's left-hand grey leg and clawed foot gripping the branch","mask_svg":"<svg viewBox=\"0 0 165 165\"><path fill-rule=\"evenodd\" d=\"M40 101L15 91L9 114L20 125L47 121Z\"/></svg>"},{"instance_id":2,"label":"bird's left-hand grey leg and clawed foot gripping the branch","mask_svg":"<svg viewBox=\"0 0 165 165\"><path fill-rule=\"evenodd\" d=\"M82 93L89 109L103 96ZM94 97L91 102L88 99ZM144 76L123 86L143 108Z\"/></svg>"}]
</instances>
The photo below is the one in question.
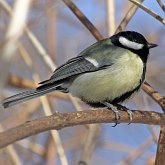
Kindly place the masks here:
<instances>
[{"instance_id":1,"label":"bird's left-hand grey leg and clawed foot gripping the branch","mask_svg":"<svg viewBox=\"0 0 165 165\"><path fill-rule=\"evenodd\" d=\"M102 104L105 105L106 107L110 108L115 113L116 123L112 127L116 127L117 124L120 124L120 122L119 122L119 120L120 120L120 113L117 110L117 107L112 105L111 103L108 103L108 102L104 102Z\"/></svg>"}]
</instances>

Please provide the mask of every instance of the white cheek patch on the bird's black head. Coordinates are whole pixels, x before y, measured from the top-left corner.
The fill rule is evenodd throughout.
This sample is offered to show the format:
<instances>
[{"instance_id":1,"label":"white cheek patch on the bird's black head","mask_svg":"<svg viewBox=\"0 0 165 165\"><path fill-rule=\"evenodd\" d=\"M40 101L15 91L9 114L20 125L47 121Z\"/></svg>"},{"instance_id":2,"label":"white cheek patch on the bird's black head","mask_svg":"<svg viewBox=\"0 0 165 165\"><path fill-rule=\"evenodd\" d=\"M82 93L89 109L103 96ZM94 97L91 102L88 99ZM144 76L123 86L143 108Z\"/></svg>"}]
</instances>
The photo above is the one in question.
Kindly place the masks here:
<instances>
[{"instance_id":1,"label":"white cheek patch on the bird's black head","mask_svg":"<svg viewBox=\"0 0 165 165\"><path fill-rule=\"evenodd\" d=\"M126 39L125 37L119 37L119 42L123 45L126 46L128 48L134 49L134 50L139 50L143 48L143 44L139 44L133 41L129 41L128 39Z\"/></svg>"}]
</instances>

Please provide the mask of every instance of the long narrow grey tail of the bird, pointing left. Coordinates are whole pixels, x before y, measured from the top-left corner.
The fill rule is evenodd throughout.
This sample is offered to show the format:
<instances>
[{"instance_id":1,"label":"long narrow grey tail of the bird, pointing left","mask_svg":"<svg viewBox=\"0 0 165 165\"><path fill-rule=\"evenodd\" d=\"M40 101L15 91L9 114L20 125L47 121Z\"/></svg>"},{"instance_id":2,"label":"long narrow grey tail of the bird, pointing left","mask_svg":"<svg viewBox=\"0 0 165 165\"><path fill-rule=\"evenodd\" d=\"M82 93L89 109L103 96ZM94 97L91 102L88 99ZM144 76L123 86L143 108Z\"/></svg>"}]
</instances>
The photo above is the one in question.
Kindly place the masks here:
<instances>
[{"instance_id":1,"label":"long narrow grey tail of the bird, pointing left","mask_svg":"<svg viewBox=\"0 0 165 165\"><path fill-rule=\"evenodd\" d=\"M53 84L41 85L37 89L27 90L25 92L22 92L22 93L19 93L19 94L16 94L14 96L4 99L2 101L2 105L4 108L7 108L10 106L16 105L18 103L28 101L30 99L34 99L36 97L42 96L44 94L47 94L56 90L58 86L53 85Z\"/></svg>"}]
</instances>

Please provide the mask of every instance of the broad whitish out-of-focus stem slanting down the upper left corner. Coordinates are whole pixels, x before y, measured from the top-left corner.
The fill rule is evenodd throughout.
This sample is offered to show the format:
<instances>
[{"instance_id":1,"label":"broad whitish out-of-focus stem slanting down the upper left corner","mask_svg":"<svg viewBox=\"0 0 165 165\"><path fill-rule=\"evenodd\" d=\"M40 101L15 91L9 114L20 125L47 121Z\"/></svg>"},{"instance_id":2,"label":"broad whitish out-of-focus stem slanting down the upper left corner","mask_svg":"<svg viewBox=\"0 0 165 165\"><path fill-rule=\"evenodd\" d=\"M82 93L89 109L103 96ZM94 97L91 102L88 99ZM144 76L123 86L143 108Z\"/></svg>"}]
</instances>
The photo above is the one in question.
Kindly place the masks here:
<instances>
[{"instance_id":1,"label":"broad whitish out-of-focus stem slanting down the upper left corner","mask_svg":"<svg viewBox=\"0 0 165 165\"><path fill-rule=\"evenodd\" d=\"M0 3L2 2L3 1L1 0ZM3 87L6 84L9 75L10 63L17 49L17 41L20 38L20 36L23 34L24 25L27 20L30 4L31 4L31 0L28 1L17 0L14 3L13 15L9 22L5 34L5 42L0 52L1 53L0 91L3 90Z\"/></svg>"}]
</instances>

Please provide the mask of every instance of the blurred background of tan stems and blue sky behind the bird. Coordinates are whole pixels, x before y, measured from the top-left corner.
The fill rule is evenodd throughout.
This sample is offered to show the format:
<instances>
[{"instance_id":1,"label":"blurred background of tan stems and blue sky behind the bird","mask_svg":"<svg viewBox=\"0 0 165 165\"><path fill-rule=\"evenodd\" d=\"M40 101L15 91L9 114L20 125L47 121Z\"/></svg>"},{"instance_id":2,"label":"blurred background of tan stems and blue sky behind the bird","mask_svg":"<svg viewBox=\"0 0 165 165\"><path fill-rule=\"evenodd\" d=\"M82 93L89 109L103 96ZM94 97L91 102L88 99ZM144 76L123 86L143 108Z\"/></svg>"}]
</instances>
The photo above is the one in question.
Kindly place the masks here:
<instances>
[{"instance_id":1,"label":"blurred background of tan stems and blue sky behind the bird","mask_svg":"<svg viewBox=\"0 0 165 165\"><path fill-rule=\"evenodd\" d=\"M104 38L133 7L129 0L74 0ZM165 4L165 1L162 0ZM143 5L161 18L165 13L157 0ZM146 81L165 95L164 22L137 9L126 30L142 33L159 46L149 56ZM1 99L34 88L53 70L96 42L88 29L62 0L0 0ZM130 109L162 112L142 90L127 104ZM52 93L3 110L0 130L7 130L51 113L88 109L68 94ZM112 124L76 126L47 131L0 150L0 164L15 165L152 165L158 126Z\"/></svg>"}]
</instances>

